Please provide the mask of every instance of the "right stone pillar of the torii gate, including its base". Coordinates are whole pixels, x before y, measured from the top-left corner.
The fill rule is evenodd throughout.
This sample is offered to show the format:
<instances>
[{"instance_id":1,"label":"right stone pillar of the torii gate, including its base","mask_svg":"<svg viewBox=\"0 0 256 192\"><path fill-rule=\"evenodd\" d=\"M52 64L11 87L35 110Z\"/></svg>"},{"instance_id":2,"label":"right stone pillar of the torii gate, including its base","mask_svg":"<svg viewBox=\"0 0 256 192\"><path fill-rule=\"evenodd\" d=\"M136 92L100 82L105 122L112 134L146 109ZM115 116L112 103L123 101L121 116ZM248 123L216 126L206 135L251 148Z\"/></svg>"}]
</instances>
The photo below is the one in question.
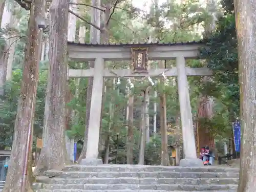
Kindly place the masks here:
<instances>
[{"instance_id":1,"label":"right stone pillar of the torii gate, including its base","mask_svg":"<svg viewBox=\"0 0 256 192\"><path fill-rule=\"evenodd\" d=\"M186 62L184 57L176 57L176 67L182 125L183 150L185 154L185 159L182 159L179 165L202 166L203 161L197 158L196 152L193 118L186 75Z\"/></svg>"}]
</instances>

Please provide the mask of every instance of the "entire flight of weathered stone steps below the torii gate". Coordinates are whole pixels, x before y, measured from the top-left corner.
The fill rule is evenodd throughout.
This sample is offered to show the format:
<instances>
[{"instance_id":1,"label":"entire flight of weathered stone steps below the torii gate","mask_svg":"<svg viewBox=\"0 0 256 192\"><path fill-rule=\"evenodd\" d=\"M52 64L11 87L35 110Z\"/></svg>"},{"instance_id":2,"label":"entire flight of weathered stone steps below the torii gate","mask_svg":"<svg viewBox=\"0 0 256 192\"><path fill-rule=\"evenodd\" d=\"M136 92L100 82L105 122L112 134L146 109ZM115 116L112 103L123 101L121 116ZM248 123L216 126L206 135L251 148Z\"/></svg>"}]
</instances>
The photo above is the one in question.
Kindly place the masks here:
<instances>
[{"instance_id":1,"label":"entire flight of weathered stone steps below the torii gate","mask_svg":"<svg viewBox=\"0 0 256 192\"><path fill-rule=\"evenodd\" d=\"M36 192L236 192L239 169L217 166L66 166L37 177Z\"/></svg>"}]
</instances>

